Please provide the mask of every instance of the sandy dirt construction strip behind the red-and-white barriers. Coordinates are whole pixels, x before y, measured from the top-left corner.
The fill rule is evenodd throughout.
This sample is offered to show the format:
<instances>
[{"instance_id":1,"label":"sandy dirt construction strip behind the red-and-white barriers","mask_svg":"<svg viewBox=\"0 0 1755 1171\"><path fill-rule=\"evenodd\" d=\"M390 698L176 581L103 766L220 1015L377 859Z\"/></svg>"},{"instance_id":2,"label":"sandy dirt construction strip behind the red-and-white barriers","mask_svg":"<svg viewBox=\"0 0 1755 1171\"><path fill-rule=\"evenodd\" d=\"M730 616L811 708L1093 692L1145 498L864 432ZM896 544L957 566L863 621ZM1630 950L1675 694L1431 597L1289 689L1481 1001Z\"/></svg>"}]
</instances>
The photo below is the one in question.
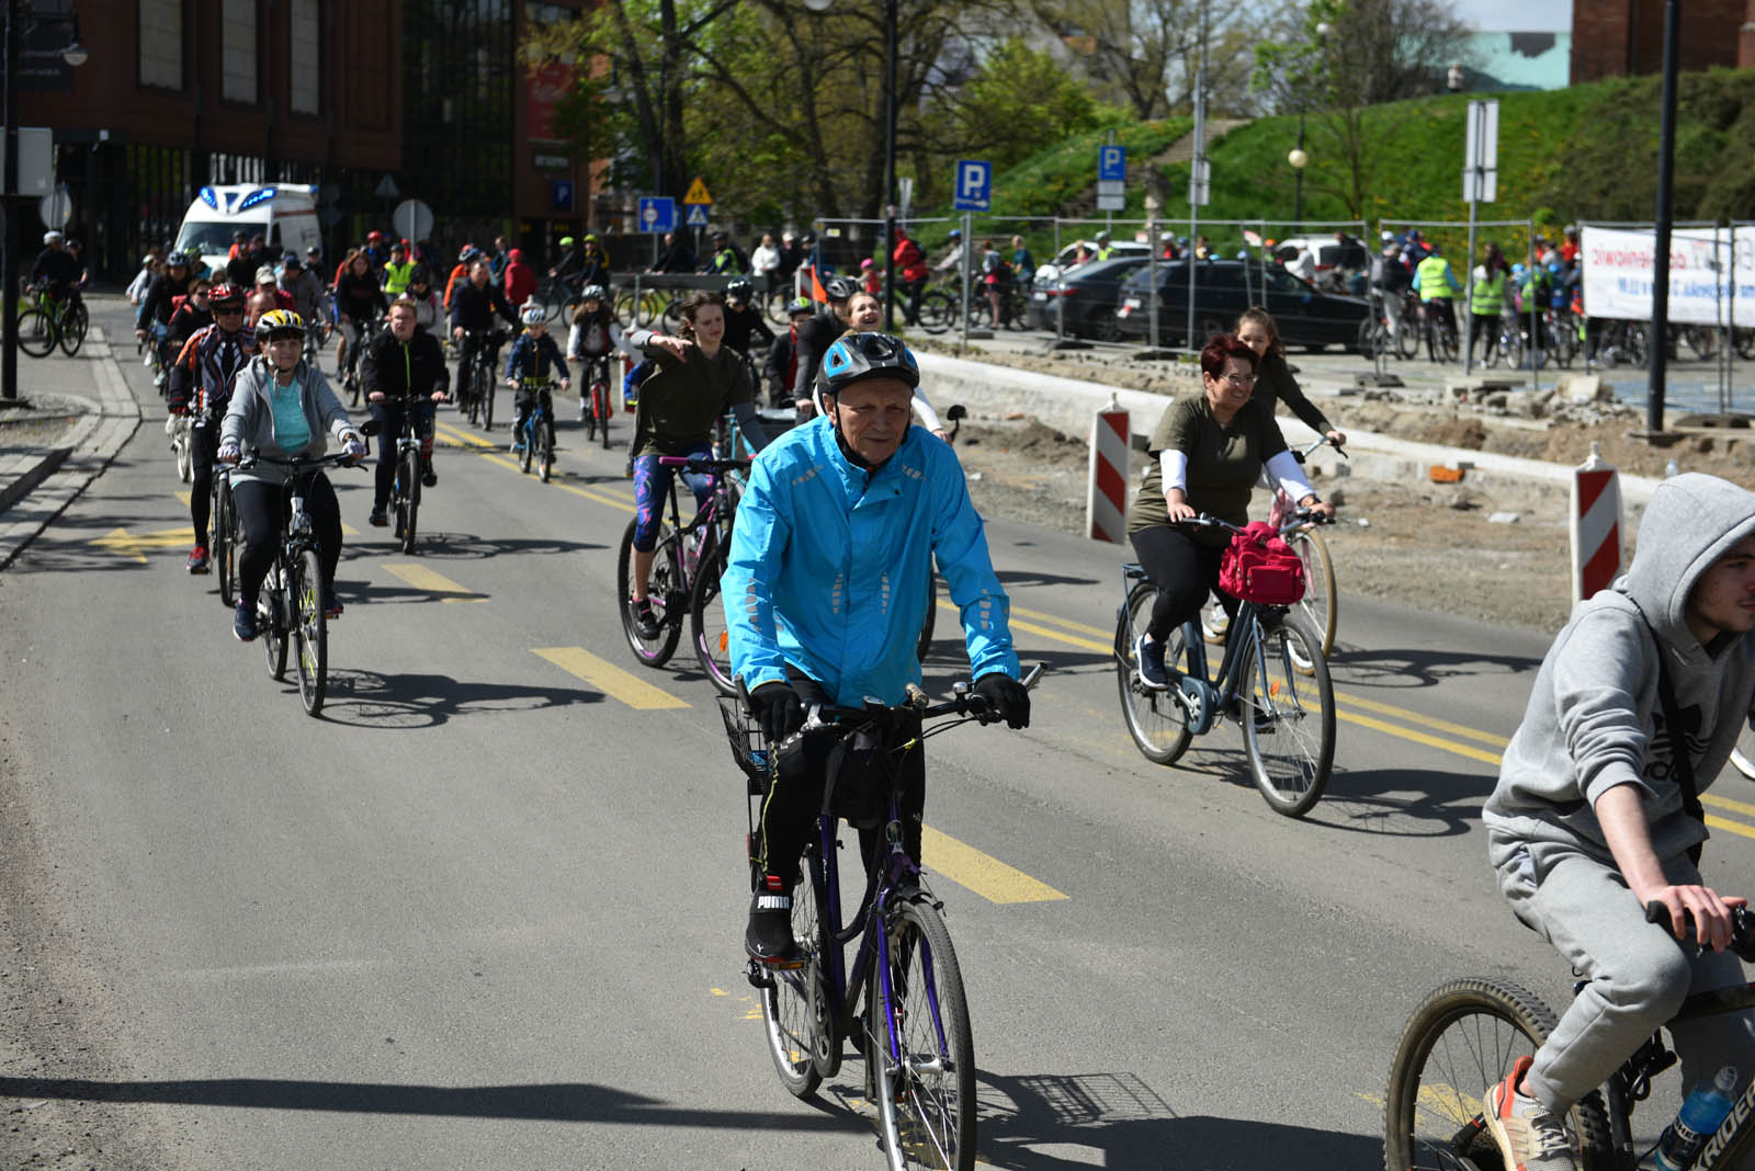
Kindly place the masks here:
<instances>
[{"instance_id":1,"label":"sandy dirt construction strip behind the red-and-white barriers","mask_svg":"<svg viewBox=\"0 0 1755 1171\"><path fill-rule=\"evenodd\" d=\"M1567 468L1580 465L1597 442L1604 459L1629 475L1662 477L1674 461L1683 472L1755 482L1755 431L1748 429L1688 433L1658 447L1630 435L1643 426L1637 412L1615 407L1592 422L1530 422L1478 414L1465 403L1323 398L1320 405L1343 431L1376 431ZM1739 435L1748 438L1732 438ZM1085 531L1090 456L1083 435L1062 435L1023 417L972 417L956 445L971 496L983 514ZM1144 465L1146 456L1134 452L1132 486L1139 484ZM1325 536L1343 615L1346 598L1364 596L1544 633L1565 622L1571 608L1565 491L1530 486L1490 494L1471 484L1467 473L1458 484L1358 475L1313 477L1313 484L1337 503L1337 522ZM1265 494L1258 501L1260 508L1251 512L1265 515ZM1629 508L1625 559L1632 557L1637 519L1637 510ZM1118 547L1114 557L1132 559L1132 550Z\"/></svg>"}]
</instances>

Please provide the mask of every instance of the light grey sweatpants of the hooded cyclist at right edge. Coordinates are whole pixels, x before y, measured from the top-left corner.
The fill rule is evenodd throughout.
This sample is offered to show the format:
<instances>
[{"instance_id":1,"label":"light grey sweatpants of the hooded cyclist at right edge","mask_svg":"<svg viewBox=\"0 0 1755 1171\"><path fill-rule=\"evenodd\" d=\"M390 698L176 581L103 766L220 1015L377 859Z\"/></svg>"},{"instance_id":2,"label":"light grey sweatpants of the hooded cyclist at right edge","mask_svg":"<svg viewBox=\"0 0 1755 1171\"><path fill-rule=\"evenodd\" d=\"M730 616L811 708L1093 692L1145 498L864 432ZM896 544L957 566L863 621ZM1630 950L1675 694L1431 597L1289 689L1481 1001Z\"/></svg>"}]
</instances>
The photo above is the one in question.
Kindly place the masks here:
<instances>
[{"instance_id":1,"label":"light grey sweatpants of the hooded cyclist at right edge","mask_svg":"<svg viewBox=\"0 0 1755 1171\"><path fill-rule=\"evenodd\" d=\"M1701 882L1685 855L1665 859L1664 873L1673 884ZM1499 866L1499 889L1518 919L1588 980L1525 1080L1550 1110L1564 1111L1602 1085L1690 992L1744 982L1732 952L1692 955L1665 927L1648 924L1620 871L1588 854L1537 843L1532 857L1516 847ZM1671 1029L1671 1038L1683 1092L1723 1066L1736 1066L1741 1092L1755 1073L1755 1013L1701 1017Z\"/></svg>"}]
</instances>

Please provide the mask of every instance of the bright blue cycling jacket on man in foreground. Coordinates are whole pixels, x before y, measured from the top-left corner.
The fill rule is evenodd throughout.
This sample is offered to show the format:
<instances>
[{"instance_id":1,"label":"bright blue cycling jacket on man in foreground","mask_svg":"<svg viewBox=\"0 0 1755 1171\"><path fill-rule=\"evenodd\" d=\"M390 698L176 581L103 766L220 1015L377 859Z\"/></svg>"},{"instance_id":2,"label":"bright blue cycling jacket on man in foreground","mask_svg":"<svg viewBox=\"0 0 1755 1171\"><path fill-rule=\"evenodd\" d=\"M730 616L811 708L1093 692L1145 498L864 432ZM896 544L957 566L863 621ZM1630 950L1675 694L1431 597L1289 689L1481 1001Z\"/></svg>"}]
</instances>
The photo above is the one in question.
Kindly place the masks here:
<instances>
[{"instance_id":1,"label":"bright blue cycling jacket on man in foreground","mask_svg":"<svg viewBox=\"0 0 1755 1171\"><path fill-rule=\"evenodd\" d=\"M914 643L934 557L974 678L1016 678L1011 601L951 449L909 428L869 475L841 454L828 419L793 428L756 458L737 505L720 582L732 671L755 691L784 680L792 663L839 705L900 703L920 682Z\"/></svg>"}]
</instances>

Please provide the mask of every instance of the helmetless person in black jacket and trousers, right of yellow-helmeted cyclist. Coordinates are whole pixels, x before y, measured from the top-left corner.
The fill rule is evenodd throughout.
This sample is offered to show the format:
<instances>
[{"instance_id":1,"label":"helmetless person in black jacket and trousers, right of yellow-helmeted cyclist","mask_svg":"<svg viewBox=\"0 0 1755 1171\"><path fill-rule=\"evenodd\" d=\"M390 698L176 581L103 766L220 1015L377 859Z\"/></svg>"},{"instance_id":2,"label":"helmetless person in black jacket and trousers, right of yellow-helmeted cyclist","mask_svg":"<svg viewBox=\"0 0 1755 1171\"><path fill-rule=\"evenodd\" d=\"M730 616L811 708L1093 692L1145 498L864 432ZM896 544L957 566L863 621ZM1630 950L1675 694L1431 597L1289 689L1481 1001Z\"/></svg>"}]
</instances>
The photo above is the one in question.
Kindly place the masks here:
<instances>
[{"instance_id":1,"label":"helmetless person in black jacket and trousers, right of yellow-helmeted cyclist","mask_svg":"<svg viewBox=\"0 0 1755 1171\"><path fill-rule=\"evenodd\" d=\"M384 508L397 479L397 438L407 426L405 410L414 412L414 429L421 436L421 484L439 482L433 472L433 403L444 401L451 372L444 365L439 338L414 324L416 305L398 298L390 307L390 328L372 337L360 356L360 384L379 422L377 486L372 493L372 524L388 524Z\"/></svg>"}]
</instances>

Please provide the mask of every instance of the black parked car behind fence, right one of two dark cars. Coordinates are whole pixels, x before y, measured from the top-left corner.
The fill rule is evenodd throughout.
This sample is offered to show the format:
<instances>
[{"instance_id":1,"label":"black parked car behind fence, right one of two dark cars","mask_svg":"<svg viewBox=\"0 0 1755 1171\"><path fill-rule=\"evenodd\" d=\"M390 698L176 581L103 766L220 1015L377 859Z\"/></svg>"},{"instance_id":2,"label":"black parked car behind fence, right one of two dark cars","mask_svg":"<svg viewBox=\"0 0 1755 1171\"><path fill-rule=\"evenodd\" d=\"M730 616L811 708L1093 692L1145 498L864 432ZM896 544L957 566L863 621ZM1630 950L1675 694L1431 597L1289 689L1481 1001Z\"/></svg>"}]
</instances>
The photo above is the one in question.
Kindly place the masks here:
<instances>
[{"instance_id":1,"label":"black parked car behind fence, right one of two dark cars","mask_svg":"<svg viewBox=\"0 0 1755 1171\"><path fill-rule=\"evenodd\" d=\"M1181 345L1188 333L1188 263L1167 261L1158 270L1158 344ZM1121 286L1116 324L1121 337L1148 337L1146 272L1135 272ZM1286 345L1320 351L1325 345L1357 347L1358 323L1371 316L1371 302L1360 296L1323 293L1299 280L1279 265L1265 268L1257 261L1195 261L1195 338L1204 344L1214 333L1237 324L1237 314L1250 305L1265 305L1279 324Z\"/></svg>"}]
</instances>

